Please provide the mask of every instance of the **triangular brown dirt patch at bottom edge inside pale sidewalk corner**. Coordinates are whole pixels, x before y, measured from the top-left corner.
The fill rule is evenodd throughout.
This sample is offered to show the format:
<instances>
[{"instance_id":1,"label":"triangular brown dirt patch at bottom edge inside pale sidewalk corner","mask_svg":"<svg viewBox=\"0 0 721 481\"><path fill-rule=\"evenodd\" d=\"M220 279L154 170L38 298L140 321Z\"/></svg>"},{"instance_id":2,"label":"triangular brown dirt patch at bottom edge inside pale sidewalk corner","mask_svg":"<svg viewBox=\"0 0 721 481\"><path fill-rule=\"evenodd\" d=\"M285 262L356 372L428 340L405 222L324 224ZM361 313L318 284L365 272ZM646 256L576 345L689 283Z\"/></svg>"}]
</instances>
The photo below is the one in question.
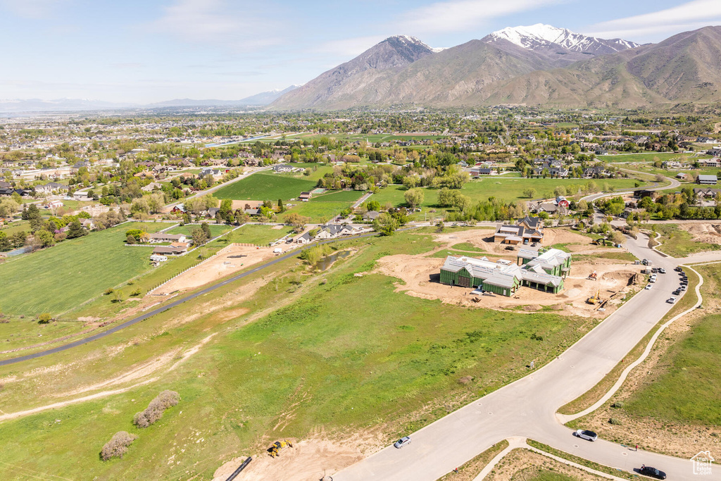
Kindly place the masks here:
<instances>
[{"instance_id":1,"label":"triangular brown dirt patch at bottom edge inside pale sidewalk corner","mask_svg":"<svg viewBox=\"0 0 721 481\"><path fill-rule=\"evenodd\" d=\"M528 451L514 449L510 451L486 477L488 481L526 481L535 480L544 471L552 471L572 477L576 480L605 480L590 472L557 462L547 456Z\"/></svg>"}]
</instances>

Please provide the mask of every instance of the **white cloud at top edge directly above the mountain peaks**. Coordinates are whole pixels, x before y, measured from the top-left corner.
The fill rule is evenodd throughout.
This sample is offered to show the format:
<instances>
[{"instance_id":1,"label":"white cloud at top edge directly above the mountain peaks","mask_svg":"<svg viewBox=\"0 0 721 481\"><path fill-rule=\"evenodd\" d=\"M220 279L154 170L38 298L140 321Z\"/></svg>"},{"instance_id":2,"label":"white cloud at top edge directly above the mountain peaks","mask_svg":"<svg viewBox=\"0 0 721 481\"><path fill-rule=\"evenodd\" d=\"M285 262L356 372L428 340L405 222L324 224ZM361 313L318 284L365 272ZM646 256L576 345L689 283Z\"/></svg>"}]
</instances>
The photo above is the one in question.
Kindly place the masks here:
<instances>
[{"instance_id":1,"label":"white cloud at top edge directly above the mountain peaks","mask_svg":"<svg viewBox=\"0 0 721 481\"><path fill-rule=\"evenodd\" d=\"M565 3L565 0L439 1L407 12L395 26L413 35L474 30L497 17L561 3Z\"/></svg>"}]
</instances>

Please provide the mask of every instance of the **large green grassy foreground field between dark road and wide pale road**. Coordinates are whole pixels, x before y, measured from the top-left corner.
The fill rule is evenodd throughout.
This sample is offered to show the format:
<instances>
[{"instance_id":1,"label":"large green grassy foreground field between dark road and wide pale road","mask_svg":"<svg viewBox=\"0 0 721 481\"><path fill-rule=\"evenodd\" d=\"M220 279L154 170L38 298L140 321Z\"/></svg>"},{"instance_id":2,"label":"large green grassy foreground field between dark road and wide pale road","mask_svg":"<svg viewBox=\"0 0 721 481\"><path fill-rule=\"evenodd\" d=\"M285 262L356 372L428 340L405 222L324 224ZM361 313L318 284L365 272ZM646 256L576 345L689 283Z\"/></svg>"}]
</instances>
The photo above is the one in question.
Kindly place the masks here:
<instances>
[{"instance_id":1,"label":"large green grassy foreground field between dark road and wide pale road","mask_svg":"<svg viewBox=\"0 0 721 481\"><path fill-rule=\"evenodd\" d=\"M172 361L216 333L159 381L0 423L0 477L18 480L26 472L53 472L70 479L212 479L221 464L252 455L257 461L248 476L287 479L283 464L262 455L272 433L298 446L324 448L320 457L293 466L309 470L304 479L317 479L313 469L318 466L337 469L359 456L357 441L340 436L350 437L383 419L372 441L382 446L446 415L449 402L457 406L518 378L529 359L544 365L593 326L553 312L464 309L419 299L394 292L397 279L369 273L379 257L433 249L430 234L399 233L338 247L355 254L337 261L322 283L303 275L297 260L287 260L278 265L280 278L268 288L224 310L179 323L177 309L171 309L123 331L121 337L136 342L127 343L122 353L106 338L60 358L84 359L99 349L111 353L112 363L108 356L91 358L76 369L40 371L27 384L6 383L0 402L5 412L14 412L55 402L58 392L71 391L76 383L84 386L99 373L105 374L101 379L112 377L115 370L165 352L173 353ZM247 282L261 282L263 276L267 273ZM188 308L217 304L216 295L232 301L244 286L228 286ZM371 309L379 305L385 309ZM271 312L254 317L266 309ZM531 339L533 332L544 332L544 341ZM0 376L8 369L0 369ZM179 392L180 404L150 428L135 428L133 414L163 389ZM319 428L345 434L319 435ZM99 449L120 430L139 437L123 459L100 461ZM27 456L40 447L42 456Z\"/></svg>"}]
</instances>

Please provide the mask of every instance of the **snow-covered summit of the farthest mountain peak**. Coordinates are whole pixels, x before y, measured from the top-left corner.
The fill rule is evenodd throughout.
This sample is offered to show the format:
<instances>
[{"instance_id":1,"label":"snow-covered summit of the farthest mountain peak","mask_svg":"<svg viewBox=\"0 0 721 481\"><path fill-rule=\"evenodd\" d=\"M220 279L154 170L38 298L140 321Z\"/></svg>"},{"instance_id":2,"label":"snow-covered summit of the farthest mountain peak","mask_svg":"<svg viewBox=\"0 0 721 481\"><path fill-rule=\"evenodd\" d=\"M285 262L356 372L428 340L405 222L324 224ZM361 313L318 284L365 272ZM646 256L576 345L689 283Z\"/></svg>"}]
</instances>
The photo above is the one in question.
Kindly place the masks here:
<instances>
[{"instance_id":1,"label":"snow-covered summit of the farthest mountain peak","mask_svg":"<svg viewBox=\"0 0 721 481\"><path fill-rule=\"evenodd\" d=\"M521 27L506 27L503 30L492 32L483 40L487 43L508 40L508 42L522 48L527 48L528 50L560 46L572 52L591 53L594 55L614 53L640 46L637 43L620 38L604 40L602 38L589 37L588 35L571 32L567 28L558 28L541 23Z\"/></svg>"}]
</instances>

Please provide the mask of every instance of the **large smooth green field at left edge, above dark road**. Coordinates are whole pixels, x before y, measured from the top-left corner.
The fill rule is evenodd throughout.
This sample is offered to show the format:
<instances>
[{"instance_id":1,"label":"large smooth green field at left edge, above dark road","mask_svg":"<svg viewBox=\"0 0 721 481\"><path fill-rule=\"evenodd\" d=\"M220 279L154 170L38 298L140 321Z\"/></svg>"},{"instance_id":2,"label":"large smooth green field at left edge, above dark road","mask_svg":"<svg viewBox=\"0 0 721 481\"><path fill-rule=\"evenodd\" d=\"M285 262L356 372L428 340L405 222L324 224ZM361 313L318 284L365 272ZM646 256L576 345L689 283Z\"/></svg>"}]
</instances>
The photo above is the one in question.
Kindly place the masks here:
<instances>
[{"instance_id":1,"label":"large smooth green field at left edge, above dark road","mask_svg":"<svg viewBox=\"0 0 721 481\"><path fill-rule=\"evenodd\" d=\"M0 265L0 310L60 314L151 268L152 247L125 247L125 231L156 232L161 222L123 224Z\"/></svg>"}]
</instances>

